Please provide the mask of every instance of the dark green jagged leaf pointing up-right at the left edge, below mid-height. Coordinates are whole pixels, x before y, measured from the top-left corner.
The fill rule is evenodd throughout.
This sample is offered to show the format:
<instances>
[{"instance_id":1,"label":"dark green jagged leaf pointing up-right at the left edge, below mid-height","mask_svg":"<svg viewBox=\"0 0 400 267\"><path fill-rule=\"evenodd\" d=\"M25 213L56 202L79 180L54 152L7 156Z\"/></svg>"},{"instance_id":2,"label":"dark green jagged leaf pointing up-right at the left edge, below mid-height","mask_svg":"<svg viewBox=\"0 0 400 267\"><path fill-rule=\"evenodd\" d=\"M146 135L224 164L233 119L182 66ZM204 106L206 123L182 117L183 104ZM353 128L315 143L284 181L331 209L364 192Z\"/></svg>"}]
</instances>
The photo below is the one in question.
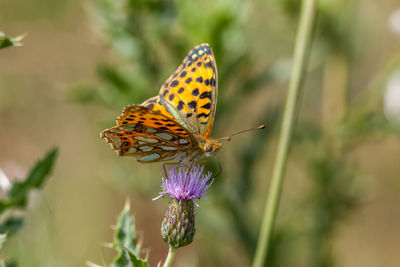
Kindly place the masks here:
<instances>
[{"instance_id":1,"label":"dark green jagged leaf pointing up-right at the left edge, below mid-height","mask_svg":"<svg viewBox=\"0 0 400 267\"><path fill-rule=\"evenodd\" d=\"M7 198L0 200L0 214L10 207L25 207L31 189L42 187L45 180L50 176L57 154L58 149L53 148L35 164L26 180L12 184Z\"/></svg>"}]
</instances>

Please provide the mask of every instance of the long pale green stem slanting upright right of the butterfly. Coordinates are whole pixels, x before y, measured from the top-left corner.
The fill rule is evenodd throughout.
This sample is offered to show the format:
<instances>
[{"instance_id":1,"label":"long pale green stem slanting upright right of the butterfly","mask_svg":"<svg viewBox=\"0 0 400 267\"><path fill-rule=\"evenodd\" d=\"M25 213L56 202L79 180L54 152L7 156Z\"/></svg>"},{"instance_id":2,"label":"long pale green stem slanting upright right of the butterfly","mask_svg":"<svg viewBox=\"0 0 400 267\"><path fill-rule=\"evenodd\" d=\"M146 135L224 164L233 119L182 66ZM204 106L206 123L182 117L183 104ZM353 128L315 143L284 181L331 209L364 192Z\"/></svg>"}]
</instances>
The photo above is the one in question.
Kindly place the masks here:
<instances>
[{"instance_id":1,"label":"long pale green stem slanting upright right of the butterfly","mask_svg":"<svg viewBox=\"0 0 400 267\"><path fill-rule=\"evenodd\" d=\"M264 266L271 239L272 229L278 212L282 183L290 147L290 139L295 122L295 111L298 110L299 91L302 86L311 47L311 35L315 18L317 0L303 0L299 28L294 47L292 75L281 125L278 151L276 155L271 185L264 211L253 267Z\"/></svg>"}]
</instances>

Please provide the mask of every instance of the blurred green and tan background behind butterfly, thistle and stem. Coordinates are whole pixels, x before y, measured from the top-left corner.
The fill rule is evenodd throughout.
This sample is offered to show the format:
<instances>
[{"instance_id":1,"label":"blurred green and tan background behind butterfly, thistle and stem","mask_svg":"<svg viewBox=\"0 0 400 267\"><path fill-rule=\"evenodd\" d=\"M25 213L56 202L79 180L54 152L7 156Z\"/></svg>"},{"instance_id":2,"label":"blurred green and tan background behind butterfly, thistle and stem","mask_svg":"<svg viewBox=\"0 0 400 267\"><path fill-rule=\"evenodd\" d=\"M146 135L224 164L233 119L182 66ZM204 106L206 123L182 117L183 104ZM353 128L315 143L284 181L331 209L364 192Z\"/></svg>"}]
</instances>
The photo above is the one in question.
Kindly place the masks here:
<instances>
[{"instance_id":1,"label":"blurred green and tan background behind butterfly, thistle and stem","mask_svg":"<svg viewBox=\"0 0 400 267\"><path fill-rule=\"evenodd\" d=\"M0 168L23 178L53 146L1 255L18 266L110 262L103 244L127 198L149 262L167 254L160 164L118 157L99 138L124 105L156 95L195 45L219 72L214 137L223 174L199 201L195 241L175 266L248 266L276 152L299 3L1 1ZM268 266L399 266L400 5L319 1L314 42ZM216 161L207 168L216 171ZM17 212L17 211L13 211Z\"/></svg>"}]
</instances>

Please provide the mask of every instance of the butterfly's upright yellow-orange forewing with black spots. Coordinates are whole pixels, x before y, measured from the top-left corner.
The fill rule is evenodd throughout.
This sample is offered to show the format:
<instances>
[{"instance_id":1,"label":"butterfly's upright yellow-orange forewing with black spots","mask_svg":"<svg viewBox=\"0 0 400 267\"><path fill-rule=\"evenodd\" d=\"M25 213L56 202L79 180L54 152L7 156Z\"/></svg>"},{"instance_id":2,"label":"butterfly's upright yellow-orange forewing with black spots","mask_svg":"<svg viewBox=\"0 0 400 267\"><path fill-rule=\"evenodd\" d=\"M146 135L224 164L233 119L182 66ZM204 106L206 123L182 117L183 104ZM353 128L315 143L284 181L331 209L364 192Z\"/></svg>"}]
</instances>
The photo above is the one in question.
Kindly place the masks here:
<instances>
[{"instance_id":1,"label":"butterfly's upright yellow-orange forewing with black spots","mask_svg":"<svg viewBox=\"0 0 400 267\"><path fill-rule=\"evenodd\" d=\"M217 106L217 66L211 47L192 49L160 90L160 105L193 134L208 138Z\"/></svg>"}]
</instances>

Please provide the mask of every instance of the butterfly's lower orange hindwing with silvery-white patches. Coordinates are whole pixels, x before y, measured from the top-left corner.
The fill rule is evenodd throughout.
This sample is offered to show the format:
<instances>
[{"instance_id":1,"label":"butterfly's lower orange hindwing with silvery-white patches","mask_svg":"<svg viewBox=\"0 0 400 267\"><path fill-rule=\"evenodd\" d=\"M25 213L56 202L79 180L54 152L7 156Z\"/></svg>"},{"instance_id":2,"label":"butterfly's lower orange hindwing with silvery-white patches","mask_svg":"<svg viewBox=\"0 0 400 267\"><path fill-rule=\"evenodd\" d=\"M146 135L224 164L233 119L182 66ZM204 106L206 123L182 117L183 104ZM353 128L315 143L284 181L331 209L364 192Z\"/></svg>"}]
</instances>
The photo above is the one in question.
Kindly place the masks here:
<instances>
[{"instance_id":1,"label":"butterfly's lower orange hindwing with silvery-white patches","mask_svg":"<svg viewBox=\"0 0 400 267\"><path fill-rule=\"evenodd\" d=\"M100 136L119 155L139 162L176 160L198 147L196 138L176 121L140 105L125 107L117 124Z\"/></svg>"}]
</instances>

